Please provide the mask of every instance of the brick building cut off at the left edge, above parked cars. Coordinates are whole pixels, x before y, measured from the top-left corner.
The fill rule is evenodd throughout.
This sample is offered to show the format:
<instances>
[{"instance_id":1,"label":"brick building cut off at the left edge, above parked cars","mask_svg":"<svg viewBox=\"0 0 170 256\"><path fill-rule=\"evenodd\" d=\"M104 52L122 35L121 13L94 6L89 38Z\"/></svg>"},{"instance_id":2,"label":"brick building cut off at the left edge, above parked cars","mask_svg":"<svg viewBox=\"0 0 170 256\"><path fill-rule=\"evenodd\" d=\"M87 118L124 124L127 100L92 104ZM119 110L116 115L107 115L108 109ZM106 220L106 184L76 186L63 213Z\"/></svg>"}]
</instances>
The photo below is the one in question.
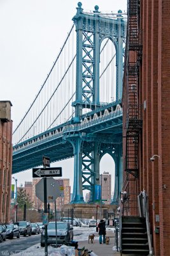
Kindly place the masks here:
<instances>
[{"instance_id":1,"label":"brick building cut off at the left edge, above parked cars","mask_svg":"<svg viewBox=\"0 0 170 256\"><path fill-rule=\"evenodd\" d=\"M0 223L10 221L12 121L11 102L0 101Z\"/></svg>"}]
</instances>

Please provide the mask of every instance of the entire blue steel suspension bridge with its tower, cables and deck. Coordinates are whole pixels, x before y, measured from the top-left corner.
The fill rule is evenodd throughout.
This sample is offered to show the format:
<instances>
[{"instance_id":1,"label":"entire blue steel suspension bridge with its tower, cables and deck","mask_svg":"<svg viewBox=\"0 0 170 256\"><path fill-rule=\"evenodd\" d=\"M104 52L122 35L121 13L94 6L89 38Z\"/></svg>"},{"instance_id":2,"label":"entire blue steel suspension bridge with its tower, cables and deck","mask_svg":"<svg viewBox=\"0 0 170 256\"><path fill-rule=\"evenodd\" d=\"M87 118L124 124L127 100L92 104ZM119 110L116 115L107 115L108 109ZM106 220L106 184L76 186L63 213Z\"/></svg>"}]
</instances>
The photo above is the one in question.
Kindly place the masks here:
<instances>
[{"instance_id":1,"label":"entire blue steel suspension bridge with its tower, cables and deck","mask_svg":"<svg viewBox=\"0 0 170 256\"><path fill-rule=\"evenodd\" d=\"M72 203L99 184L105 154L115 161L116 204L122 189L122 79L127 17L84 11L79 2L73 26L41 85L13 131L12 173L74 157Z\"/></svg>"}]
</instances>

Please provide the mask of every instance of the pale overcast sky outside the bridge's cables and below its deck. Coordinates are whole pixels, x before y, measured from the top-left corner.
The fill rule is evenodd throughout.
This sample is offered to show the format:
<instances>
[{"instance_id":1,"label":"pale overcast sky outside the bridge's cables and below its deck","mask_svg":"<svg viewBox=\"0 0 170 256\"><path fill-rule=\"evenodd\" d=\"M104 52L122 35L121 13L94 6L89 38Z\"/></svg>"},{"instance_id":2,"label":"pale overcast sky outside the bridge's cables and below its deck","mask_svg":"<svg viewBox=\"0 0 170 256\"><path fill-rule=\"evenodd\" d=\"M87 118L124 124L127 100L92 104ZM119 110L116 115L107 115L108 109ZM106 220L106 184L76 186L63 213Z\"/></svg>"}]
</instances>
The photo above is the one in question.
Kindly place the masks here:
<instances>
[{"instance_id":1,"label":"pale overcast sky outside the bridge's cables and below its deck","mask_svg":"<svg viewBox=\"0 0 170 256\"><path fill-rule=\"evenodd\" d=\"M10 100L13 104L13 127L45 81L73 25L71 19L76 14L77 3L77 0L0 0L0 100ZM127 9L127 0L82 0L81 3L84 10L94 10L96 4L103 12ZM63 178L70 178L73 188L73 159L53 165L62 166ZM113 174L111 157L102 159L100 169ZM18 179L18 185L32 180L31 170L13 176Z\"/></svg>"}]
</instances>

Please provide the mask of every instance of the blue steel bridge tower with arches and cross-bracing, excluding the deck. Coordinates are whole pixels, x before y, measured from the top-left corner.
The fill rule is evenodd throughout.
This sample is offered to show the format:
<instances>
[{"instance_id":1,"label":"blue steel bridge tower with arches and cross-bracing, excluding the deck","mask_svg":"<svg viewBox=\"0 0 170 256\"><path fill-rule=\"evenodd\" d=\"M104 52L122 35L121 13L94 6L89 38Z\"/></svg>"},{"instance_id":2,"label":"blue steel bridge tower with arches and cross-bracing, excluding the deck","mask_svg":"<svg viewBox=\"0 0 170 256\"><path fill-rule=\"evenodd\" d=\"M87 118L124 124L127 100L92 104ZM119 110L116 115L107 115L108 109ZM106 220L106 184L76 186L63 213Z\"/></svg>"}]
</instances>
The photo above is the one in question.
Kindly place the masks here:
<instances>
[{"instance_id":1,"label":"blue steel bridge tower with arches and cross-bracing, excluding the deck","mask_svg":"<svg viewBox=\"0 0 170 256\"><path fill-rule=\"evenodd\" d=\"M73 124L81 122L84 108L94 110L100 108L99 101L99 63L101 42L109 38L115 45L116 51L116 99L122 98L122 77L125 43L125 21L119 11L117 19L104 17L95 6L93 13L83 12L79 2L73 22L76 26L76 99L72 106L75 108ZM72 203L81 204L83 189L89 189L90 200L94 202L95 185L99 184L99 163L101 157L108 153L115 161L115 195L122 188L122 141L108 143L105 137L93 138L85 134L74 133L68 139L74 148L74 186ZM115 141L116 142L116 141Z\"/></svg>"}]
</instances>

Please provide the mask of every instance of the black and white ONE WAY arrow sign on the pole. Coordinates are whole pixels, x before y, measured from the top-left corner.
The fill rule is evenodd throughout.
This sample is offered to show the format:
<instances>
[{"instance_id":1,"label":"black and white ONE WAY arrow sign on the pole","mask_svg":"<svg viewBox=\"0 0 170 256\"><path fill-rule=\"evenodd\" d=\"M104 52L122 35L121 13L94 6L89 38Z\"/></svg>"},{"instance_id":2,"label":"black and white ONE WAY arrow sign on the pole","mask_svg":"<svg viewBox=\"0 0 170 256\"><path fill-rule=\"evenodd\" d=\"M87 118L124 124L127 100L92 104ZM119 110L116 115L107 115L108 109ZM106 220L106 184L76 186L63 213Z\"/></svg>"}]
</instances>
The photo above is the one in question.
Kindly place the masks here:
<instances>
[{"instance_id":1,"label":"black and white ONE WAY arrow sign on the pole","mask_svg":"<svg viewBox=\"0 0 170 256\"><path fill-rule=\"evenodd\" d=\"M42 177L62 177L61 167L52 168L33 168L32 178L42 178Z\"/></svg>"}]
</instances>

